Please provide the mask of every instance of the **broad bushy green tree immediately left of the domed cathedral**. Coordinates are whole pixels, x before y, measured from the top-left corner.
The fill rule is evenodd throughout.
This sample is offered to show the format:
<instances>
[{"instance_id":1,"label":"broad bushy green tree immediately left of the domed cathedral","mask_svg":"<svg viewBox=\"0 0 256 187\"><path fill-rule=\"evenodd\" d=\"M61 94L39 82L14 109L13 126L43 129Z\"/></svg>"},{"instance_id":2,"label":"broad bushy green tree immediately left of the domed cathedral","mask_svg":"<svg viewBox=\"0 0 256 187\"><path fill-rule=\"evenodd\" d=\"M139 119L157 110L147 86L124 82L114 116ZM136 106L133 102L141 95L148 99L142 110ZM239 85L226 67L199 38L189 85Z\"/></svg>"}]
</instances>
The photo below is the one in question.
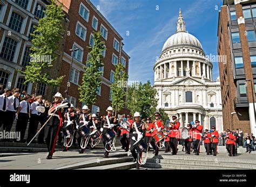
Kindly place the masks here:
<instances>
[{"instance_id":1,"label":"broad bushy green tree immediately left of the domed cathedral","mask_svg":"<svg viewBox=\"0 0 256 187\"><path fill-rule=\"evenodd\" d=\"M158 102L156 94L157 91L151 86L150 81L145 84L133 84L128 89L127 108L132 113L139 112L142 119L152 116L156 112Z\"/></svg>"}]
</instances>

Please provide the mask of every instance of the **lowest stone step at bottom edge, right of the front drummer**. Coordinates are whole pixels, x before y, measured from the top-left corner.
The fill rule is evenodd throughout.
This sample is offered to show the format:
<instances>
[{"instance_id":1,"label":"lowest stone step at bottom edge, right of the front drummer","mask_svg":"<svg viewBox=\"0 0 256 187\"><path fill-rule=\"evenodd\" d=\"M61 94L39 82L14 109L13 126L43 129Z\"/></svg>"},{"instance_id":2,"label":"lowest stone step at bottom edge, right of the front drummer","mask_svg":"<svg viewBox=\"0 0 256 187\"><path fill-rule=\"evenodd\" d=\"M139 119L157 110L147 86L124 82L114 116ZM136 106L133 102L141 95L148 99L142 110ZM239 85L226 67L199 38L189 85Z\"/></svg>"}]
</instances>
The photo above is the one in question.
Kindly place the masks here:
<instances>
[{"instance_id":1,"label":"lowest stone step at bottom edge, right of the front drummer","mask_svg":"<svg viewBox=\"0 0 256 187\"><path fill-rule=\"evenodd\" d=\"M220 168L220 167L208 167L208 166L198 166L198 165L176 165L176 164L157 164L157 163L146 163L145 165L143 165L144 167L148 167L150 168L157 168L157 169L191 169L191 170L219 170L219 169L235 169L237 170L237 168Z\"/></svg>"}]
</instances>

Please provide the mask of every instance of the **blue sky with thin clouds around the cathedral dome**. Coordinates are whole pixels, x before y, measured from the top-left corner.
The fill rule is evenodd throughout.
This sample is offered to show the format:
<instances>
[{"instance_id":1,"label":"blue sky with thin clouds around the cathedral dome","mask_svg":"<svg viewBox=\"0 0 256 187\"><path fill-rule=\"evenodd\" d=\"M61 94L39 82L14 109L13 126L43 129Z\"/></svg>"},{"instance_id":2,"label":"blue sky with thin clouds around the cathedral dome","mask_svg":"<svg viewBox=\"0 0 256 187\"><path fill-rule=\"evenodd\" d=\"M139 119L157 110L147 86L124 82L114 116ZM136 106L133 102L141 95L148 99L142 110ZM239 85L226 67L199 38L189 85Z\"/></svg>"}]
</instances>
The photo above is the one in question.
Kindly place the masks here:
<instances>
[{"instance_id":1,"label":"blue sky with thin clouds around the cathedral dome","mask_svg":"<svg viewBox=\"0 0 256 187\"><path fill-rule=\"evenodd\" d=\"M91 0L124 38L131 57L129 80L154 81L153 66L165 41L176 32L179 9L186 30L197 37L206 55L217 54L218 12L221 0ZM129 32L129 34L127 34ZM213 62L212 77L219 76Z\"/></svg>"}]
</instances>

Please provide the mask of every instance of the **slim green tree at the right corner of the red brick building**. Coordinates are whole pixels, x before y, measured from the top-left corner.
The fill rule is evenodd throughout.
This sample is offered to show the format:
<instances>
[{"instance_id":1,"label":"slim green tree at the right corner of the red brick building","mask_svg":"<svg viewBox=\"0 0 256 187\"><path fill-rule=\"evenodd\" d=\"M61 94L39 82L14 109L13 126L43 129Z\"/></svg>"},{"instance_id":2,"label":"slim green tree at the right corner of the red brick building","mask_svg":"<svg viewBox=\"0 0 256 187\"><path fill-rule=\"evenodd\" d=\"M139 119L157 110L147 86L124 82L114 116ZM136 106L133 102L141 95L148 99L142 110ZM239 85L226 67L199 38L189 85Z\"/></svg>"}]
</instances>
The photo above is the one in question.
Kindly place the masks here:
<instances>
[{"instance_id":1,"label":"slim green tree at the right corner of the red brick building","mask_svg":"<svg viewBox=\"0 0 256 187\"><path fill-rule=\"evenodd\" d=\"M128 75L124 70L121 63L115 65L116 71L114 72L114 82L111 85L112 90L112 107L116 114L123 109L125 103L126 87Z\"/></svg>"}]
</instances>

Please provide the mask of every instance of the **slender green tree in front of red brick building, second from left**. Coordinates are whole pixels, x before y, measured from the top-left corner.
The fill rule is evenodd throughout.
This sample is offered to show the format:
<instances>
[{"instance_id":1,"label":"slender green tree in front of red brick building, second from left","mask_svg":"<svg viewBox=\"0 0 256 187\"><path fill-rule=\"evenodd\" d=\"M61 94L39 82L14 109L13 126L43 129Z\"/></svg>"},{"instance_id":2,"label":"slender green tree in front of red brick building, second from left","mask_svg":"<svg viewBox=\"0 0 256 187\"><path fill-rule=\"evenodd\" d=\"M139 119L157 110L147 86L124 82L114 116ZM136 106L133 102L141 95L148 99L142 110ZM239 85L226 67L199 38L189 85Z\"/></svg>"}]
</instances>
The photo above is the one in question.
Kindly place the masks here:
<instances>
[{"instance_id":1,"label":"slender green tree in front of red brick building, second from left","mask_svg":"<svg viewBox=\"0 0 256 187\"><path fill-rule=\"evenodd\" d=\"M87 46L90 50L90 57L84 66L83 82L79 85L80 102L85 102L86 105L93 105L97 100L98 87L101 85L99 70L103 66L102 52L105 50L104 41L101 41L101 33L93 33L93 46Z\"/></svg>"}]
</instances>

